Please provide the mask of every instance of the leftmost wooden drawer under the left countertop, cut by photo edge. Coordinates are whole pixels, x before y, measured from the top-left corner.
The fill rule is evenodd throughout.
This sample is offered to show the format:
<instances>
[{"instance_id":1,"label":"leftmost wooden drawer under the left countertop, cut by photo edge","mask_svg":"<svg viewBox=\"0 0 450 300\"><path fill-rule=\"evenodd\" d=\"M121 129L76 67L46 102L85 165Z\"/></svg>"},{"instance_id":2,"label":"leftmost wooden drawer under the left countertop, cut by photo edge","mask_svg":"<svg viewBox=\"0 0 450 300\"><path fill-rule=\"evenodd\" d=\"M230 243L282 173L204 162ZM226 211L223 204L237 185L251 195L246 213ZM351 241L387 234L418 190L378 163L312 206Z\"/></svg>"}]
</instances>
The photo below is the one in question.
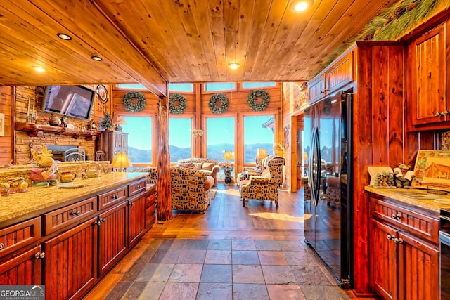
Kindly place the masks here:
<instances>
[{"instance_id":1,"label":"leftmost wooden drawer under the left countertop, cut by photo edge","mask_svg":"<svg viewBox=\"0 0 450 300\"><path fill-rule=\"evenodd\" d=\"M23 221L0 230L0 257L23 249L41 239L41 217Z\"/></svg>"}]
</instances>

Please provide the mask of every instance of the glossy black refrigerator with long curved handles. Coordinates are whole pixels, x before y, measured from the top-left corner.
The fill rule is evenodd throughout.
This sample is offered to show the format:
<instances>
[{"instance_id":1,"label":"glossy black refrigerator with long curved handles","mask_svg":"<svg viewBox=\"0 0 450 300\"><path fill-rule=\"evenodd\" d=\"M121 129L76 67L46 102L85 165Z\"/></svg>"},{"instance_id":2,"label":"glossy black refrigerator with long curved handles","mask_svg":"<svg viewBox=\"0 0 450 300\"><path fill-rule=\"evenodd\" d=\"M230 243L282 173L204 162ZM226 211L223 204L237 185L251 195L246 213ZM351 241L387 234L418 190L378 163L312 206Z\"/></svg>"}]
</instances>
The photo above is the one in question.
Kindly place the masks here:
<instances>
[{"instance_id":1,"label":"glossy black refrigerator with long curved handles","mask_svg":"<svg viewBox=\"0 0 450 300\"><path fill-rule=\"evenodd\" d=\"M304 111L305 242L343 288L353 279L352 100L340 91Z\"/></svg>"}]
</instances>

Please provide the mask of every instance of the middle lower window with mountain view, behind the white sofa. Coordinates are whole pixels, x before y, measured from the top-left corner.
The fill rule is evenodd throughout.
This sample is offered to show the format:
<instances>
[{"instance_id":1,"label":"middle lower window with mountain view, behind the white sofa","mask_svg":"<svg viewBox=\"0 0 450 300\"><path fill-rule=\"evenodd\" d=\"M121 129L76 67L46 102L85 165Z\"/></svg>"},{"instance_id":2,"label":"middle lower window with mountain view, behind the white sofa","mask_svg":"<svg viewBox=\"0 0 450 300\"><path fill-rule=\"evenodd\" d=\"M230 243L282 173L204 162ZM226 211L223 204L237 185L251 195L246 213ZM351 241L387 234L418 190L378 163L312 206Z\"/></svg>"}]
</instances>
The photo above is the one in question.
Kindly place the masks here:
<instances>
[{"instance_id":1,"label":"middle lower window with mountain view, behind the white sofa","mask_svg":"<svg viewBox=\"0 0 450 300\"><path fill-rule=\"evenodd\" d=\"M234 152L234 123L233 117L206 119L207 158L224 162L224 152Z\"/></svg>"}]
</instances>

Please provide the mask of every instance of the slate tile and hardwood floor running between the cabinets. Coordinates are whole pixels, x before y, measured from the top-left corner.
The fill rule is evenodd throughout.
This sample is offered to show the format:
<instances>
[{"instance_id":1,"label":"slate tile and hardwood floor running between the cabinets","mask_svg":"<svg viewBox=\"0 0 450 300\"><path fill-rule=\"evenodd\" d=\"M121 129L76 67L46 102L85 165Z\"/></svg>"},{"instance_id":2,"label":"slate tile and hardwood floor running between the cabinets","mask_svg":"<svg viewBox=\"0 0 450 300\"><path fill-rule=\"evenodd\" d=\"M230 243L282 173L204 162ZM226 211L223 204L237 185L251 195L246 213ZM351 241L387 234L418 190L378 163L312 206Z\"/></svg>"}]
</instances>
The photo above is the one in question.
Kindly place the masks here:
<instances>
[{"instance_id":1,"label":"slate tile and hardwood floor running between the cabinets","mask_svg":"<svg viewBox=\"0 0 450 300\"><path fill-rule=\"evenodd\" d=\"M219 183L205 214L157 221L85 299L354 299L304 244L302 191L280 207Z\"/></svg>"}]
</instances>

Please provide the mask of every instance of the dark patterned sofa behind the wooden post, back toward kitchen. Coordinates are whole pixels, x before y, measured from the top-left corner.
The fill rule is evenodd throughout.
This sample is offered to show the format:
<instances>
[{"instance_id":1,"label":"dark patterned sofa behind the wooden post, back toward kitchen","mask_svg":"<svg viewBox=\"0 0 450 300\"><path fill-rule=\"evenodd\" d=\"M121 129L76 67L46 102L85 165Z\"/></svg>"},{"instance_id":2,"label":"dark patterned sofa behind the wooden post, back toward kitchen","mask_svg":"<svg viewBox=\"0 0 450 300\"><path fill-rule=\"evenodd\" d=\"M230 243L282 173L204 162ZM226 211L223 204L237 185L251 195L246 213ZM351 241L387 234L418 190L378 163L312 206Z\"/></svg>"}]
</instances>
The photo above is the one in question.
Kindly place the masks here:
<instances>
[{"instance_id":1,"label":"dark patterned sofa behind the wooden post, back toward kitchen","mask_svg":"<svg viewBox=\"0 0 450 300\"><path fill-rule=\"evenodd\" d=\"M134 171L148 172L148 183L158 185L158 169L155 167ZM204 214L211 202L214 178L205 171L185 167L170 167L170 176L172 209ZM156 196L158 197L158 194Z\"/></svg>"}]
</instances>

